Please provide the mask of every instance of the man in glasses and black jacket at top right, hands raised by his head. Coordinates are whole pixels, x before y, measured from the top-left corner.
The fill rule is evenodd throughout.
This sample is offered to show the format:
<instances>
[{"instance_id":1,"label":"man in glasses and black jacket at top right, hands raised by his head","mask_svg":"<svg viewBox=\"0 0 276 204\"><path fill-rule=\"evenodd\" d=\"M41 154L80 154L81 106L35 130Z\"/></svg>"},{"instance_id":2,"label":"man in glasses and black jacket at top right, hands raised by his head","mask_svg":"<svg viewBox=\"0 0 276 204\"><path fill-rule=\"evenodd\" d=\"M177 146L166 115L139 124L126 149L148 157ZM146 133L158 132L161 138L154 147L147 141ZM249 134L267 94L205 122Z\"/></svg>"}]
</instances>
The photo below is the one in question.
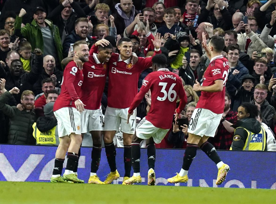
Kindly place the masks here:
<instances>
[{"instance_id":1,"label":"man in glasses and black jacket at top right, hands raised by his head","mask_svg":"<svg viewBox=\"0 0 276 204\"><path fill-rule=\"evenodd\" d=\"M229 30L232 27L231 18L232 15L226 8L226 1L218 0L215 3L213 0L208 0L207 6L201 10L198 17L198 23L207 21L213 24L214 28L222 28L223 30ZM209 12L214 8L214 15L209 18Z\"/></svg>"}]
</instances>

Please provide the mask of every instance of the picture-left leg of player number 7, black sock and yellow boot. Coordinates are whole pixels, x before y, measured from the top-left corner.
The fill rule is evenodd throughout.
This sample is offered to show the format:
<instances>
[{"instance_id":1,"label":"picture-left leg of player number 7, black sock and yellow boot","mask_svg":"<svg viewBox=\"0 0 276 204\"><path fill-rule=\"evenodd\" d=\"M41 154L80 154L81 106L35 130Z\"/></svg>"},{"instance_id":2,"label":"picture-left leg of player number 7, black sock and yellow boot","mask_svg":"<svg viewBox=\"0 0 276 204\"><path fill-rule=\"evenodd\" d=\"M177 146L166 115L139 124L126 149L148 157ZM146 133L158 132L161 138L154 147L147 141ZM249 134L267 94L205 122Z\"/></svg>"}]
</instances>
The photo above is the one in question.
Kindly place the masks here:
<instances>
[{"instance_id":1,"label":"picture-left leg of player number 7, black sock and yellow boot","mask_svg":"<svg viewBox=\"0 0 276 204\"><path fill-rule=\"evenodd\" d=\"M103 142L105 146L105 153L107 156L107 161L110 167L110 174L108 174L105 179L105 184L110 184L113 180L116 180L120 177L117 168L116 168L116 148L113 143L113 138L116 133L116 130L105 130L103 131Z\"/></svg>"}]
</instances>

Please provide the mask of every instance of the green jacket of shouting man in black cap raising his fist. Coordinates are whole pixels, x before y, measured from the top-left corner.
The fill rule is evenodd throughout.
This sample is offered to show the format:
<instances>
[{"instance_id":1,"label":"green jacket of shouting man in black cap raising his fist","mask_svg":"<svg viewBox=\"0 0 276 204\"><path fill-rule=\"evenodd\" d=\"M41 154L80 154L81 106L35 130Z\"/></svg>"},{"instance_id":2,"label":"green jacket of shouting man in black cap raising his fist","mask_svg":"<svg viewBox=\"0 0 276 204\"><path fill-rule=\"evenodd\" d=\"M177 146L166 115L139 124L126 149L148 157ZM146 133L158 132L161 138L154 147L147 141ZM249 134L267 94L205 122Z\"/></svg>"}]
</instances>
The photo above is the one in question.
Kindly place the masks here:
<instances>
[{"instance_id":1,"label":"green jacket of shouting man in black cap raising his fist","mask_svg":"<svg viewBox=\"0 0 276 204\"><path fill-rule=\"evenodd\" d=\"M41 33L40 26L36 23L35 19L30 23L27 23L25 27L21 28L22 17L16 16L15 25L14 25L14 35L26 38L28 42L31 43L32 52L35 48L41 49L43 53L44 43L43 36ZM59 62L63 59L62 56L62 45L59 36L59 28L53 24L51 20L45 19L45 23L49 26L52 35L54 36L55 47L57 49L57 56L59 57Z\"/></svg>"}]
</instances>

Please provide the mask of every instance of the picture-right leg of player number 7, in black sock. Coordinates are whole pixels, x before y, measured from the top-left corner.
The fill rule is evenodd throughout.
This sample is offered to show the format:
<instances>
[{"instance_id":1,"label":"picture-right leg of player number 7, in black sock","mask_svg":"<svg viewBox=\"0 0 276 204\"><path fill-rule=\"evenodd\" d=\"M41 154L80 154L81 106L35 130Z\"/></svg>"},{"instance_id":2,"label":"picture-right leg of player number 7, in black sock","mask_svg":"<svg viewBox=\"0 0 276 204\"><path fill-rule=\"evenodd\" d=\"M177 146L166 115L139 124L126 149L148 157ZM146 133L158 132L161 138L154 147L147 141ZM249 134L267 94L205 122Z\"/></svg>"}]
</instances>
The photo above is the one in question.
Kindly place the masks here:
<instances>
[{"instance_id":1,"label":"picture-right leg of player number 7, in black sock","mask_svg":"<svg viewBox=\"0 0 276 204\"><path fill-rule=\"evenodd\" d=\"M133 134L127 134L123 132L124 143L124 181L129 179L131 171L131 141Z\"/></svg>"}]
</instances>

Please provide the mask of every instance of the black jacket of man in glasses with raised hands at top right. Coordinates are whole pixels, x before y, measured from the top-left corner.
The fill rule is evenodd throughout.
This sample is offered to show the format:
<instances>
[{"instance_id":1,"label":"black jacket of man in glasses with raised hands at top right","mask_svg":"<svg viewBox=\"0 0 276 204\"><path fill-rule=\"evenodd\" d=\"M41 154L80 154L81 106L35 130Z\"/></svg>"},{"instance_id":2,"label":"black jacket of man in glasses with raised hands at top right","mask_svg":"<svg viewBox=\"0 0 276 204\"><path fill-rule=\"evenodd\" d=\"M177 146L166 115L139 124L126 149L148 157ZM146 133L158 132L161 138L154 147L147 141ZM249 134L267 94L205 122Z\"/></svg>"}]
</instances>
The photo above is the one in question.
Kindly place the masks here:
<instances>
[{"instance_id":1,"label":"black jacket of man in glasses with raised hands at top right","mask_svg":"<svg viewBox=\"0 0 276 204\"><path fill-rule=\"evenodd\" d=\"M201 9L201 13L198 17L198 25L202 22L212 23L215 28L222 28L223 30L230 30L232 27L232 15L225 8L221 11L222 20L218 21L214 15L209 17L209 12L206 8Z\"/></svg>"}]
</instances>

